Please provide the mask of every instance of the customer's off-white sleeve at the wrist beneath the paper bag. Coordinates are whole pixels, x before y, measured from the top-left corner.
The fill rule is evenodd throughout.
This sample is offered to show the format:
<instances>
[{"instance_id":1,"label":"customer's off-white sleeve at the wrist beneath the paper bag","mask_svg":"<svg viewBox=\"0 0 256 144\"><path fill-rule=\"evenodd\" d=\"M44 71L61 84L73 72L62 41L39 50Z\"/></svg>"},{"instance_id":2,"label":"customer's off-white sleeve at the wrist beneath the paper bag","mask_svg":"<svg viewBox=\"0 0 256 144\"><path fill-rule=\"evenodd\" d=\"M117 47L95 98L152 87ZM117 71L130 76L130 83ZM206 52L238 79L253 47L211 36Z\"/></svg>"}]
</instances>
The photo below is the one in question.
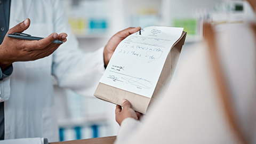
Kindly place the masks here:
<instances>
[{"instance_id":1,"label":"customer's off-white sleeve at the wrist beneath the paper bag","mask_svg":"<svg viewBox=\"0 0 256 144\"><path fill-rule=\"evenodd\" d=\"M141 122L134 118L125 118L121 123L115 143L123 143L127 139L131 138L132 134L136 132L137 127L139 127L140 124Z\"/></svg>"}]
</instances>

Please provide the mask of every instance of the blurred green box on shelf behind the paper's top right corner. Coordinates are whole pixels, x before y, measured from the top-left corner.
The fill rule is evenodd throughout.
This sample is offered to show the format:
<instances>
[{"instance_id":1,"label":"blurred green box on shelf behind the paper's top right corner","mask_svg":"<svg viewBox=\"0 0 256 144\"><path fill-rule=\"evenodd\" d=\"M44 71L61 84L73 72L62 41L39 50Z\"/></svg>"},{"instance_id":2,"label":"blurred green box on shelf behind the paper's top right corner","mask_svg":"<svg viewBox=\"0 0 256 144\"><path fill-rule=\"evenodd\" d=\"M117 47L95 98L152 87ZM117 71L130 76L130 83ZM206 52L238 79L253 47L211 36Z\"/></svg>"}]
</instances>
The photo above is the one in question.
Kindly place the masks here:
<instances>
[{"instance_id":1,"label":"blurred green box on shelf behind the paper's top right corner","mask_svg":"<svg viewBox=\"0 0 256 144\"><path fill-rule=\"evenodd\" d=\"M174 27L183 27L188 35L197 35L196 19L174 19Z\"/></svg>"}]
</instances>

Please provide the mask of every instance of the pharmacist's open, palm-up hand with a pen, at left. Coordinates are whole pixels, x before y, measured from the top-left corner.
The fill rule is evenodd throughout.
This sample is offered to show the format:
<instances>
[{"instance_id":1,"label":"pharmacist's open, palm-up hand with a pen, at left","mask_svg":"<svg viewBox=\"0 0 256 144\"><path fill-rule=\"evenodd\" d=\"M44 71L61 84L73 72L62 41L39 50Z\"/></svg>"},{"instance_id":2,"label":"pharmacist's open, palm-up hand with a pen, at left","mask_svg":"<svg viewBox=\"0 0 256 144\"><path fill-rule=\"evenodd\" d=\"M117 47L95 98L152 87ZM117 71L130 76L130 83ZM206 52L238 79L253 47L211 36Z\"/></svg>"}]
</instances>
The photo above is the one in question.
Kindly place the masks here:
<instances>
[{"instance_id":1,"label":"pharmacist's open, palm-up hand with a pen, at left","mask_svg":"<svg viewBox=\"0 0 256 144\"><path fill-rule=\"evenodd\" d=\"M19 23L17 26L11 28L7 34L22 33L28 29L30 20ZM52 54L60 44L53 44L54 39L66 42L67 34L62 33L58 35L53 33L46 38L39 41L28 41L23 39L15 39L4 37L3 43L0 45L0 67L5 69L15 61L31 61L41 59Z\"/></svg>"}]
</instances>

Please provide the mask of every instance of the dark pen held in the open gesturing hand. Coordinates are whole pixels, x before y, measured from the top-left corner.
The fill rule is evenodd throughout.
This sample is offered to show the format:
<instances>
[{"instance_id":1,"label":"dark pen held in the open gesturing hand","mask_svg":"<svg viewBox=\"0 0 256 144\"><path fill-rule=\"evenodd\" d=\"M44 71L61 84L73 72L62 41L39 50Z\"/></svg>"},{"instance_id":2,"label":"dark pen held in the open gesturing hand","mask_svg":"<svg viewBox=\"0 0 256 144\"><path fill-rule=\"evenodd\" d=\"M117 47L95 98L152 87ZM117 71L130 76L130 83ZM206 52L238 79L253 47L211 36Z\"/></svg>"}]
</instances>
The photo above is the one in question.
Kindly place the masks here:
<instances>
[{"instance_id":1,"label":"dark pen held in the open gesturing hand","mask_svg":"<svg viewBox=\"0 0 256 144\"><path fill-rule=\"evenodd\" d=\"M26 40L29 40L29 41L43 39L43 37L35 37L35 36L31 36L29 34L24 34L24 33L13 33L13 34L8 34L7 36L11 37L11 38L17 38L17 39L26 39ZM52 43L62 44L63 42L55 39Z\"/></svg>"}]
</instances>

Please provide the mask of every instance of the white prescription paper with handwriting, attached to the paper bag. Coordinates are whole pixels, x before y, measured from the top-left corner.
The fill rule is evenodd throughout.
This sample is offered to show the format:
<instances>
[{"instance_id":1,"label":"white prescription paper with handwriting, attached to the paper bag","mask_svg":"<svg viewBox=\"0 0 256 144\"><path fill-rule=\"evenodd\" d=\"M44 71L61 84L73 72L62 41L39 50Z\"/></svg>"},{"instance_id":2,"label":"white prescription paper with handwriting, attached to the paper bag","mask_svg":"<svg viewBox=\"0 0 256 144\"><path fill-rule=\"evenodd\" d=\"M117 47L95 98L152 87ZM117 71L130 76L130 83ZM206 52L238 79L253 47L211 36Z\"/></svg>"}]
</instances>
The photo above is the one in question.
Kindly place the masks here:
<instances>
[{"instance_id":1,"label":"white prescription paper with handwriting, attached to the paper bag","mask_svg":"<svg viewBox=\"0 0 256 144\"><path fill-rule=\"evenodd\" d=\"M172 45L183 28L147 27L116 48L100 83L151 98Z\"/></svg>"}]
</instances>

